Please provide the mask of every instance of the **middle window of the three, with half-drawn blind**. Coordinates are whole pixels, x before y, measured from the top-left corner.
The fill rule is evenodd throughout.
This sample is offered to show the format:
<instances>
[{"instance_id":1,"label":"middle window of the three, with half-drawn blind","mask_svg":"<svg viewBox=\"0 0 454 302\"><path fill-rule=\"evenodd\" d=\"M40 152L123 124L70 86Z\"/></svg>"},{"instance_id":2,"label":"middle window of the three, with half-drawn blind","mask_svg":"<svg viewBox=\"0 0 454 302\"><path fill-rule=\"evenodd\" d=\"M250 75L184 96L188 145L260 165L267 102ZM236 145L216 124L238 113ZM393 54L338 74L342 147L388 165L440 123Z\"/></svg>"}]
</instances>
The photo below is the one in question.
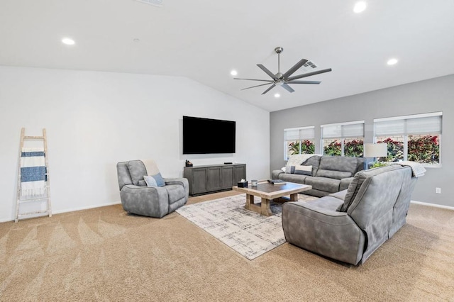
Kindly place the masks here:
<instances>
[{"instance_id":1,"label":"middle window of the three, with half-drawn blind","mask_svg":"<svg viewBox=\"0 0 454 302\"><path fill-rule=\"evenodd\" d=\"M321 125L323 155L362 157L364 121Z\"/></svg>"}]
</instances>

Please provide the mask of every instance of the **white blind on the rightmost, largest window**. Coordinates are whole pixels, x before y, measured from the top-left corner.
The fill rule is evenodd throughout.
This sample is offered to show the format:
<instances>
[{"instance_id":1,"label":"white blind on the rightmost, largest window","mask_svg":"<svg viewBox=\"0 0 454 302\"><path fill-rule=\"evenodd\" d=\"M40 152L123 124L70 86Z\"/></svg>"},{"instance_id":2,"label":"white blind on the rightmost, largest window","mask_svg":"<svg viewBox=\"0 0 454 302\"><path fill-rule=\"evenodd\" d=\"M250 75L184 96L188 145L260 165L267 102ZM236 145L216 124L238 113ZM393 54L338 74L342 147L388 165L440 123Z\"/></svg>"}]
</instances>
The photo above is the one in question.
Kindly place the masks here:
<instances>
[{"instance_id":1,"label":"white blind on the rightmost, largest window","mask_svg":"<svg viewBox=\"0 0 454 302\"><path fill-rule=\"evenodd\" d=\"M441 112L428 115L379 118L374 120L375 135L410 135L441 133Z\"/></svg>"}]
</instances>

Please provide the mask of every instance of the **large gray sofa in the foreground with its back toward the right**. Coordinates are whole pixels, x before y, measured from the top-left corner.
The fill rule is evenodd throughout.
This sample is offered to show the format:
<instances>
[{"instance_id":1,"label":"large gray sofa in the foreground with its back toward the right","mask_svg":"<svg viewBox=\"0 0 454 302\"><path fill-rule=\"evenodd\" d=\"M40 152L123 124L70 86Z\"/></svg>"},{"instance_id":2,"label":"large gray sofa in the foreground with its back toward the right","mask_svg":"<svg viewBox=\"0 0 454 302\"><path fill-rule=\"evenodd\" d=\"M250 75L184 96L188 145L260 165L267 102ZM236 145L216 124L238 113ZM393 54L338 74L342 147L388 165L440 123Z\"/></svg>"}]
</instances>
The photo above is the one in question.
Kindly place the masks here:
<instances>
[{"instance_id":1,"label":"large gray sofa in the foreground with its back toward the right","mask_svg":"<svg viewBox=\"0 0 454 302\"><path fill-rule=\"evenodd\" d=\"M362 264L406 223L415 184L411 167L400 164L358 172L345 191L284 203L285 238L304 250Z\"/></svg>"}]
</instances>

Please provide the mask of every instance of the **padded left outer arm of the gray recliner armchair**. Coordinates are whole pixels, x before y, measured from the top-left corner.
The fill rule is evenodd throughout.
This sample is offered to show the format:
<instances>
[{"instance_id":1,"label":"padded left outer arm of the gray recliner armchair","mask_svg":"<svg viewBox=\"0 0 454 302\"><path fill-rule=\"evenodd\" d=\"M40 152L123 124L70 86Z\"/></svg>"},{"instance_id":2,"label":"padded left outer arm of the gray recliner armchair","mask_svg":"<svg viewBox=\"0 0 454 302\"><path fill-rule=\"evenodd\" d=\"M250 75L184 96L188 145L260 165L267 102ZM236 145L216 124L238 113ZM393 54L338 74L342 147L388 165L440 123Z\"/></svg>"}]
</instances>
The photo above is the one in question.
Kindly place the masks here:
<instances>
[{"instance_id":1,"label":"padded left outer arm of the gray recliner armchair","mask_svg":"<svg viewBox=\"0 0 454 302\"><path fill-rule=\"evenodd\" d=\"M127 184L120 191L123 210L129 213L161 218L169 213L167 190L160 186Z\"/></svg>"}]
</instances>

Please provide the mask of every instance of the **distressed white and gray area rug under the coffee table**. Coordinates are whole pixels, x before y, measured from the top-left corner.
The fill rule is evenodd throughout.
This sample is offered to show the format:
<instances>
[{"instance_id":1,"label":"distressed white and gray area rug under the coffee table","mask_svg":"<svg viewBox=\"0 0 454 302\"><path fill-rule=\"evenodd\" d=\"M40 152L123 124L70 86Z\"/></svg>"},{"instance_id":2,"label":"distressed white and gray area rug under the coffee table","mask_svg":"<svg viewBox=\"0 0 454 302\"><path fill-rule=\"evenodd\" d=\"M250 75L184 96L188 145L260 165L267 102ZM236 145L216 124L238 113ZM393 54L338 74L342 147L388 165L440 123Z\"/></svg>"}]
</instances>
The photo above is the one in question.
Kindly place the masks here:
<instances>
[{"instance_id":1,"label":"distressed white and gray area rug under the coffee table","mask_svg":"<svg viewBox=\"0 0 454 302\"><path fill-rule=\"evenodd\" d=\"M317 199L298 195L303 201ZM177 213L252 260L285 242L282 204L272 202L273 215L267 217L246 210L245 203L245 194L241 194L183 206Z\"/></svg>"}]
</instances>

